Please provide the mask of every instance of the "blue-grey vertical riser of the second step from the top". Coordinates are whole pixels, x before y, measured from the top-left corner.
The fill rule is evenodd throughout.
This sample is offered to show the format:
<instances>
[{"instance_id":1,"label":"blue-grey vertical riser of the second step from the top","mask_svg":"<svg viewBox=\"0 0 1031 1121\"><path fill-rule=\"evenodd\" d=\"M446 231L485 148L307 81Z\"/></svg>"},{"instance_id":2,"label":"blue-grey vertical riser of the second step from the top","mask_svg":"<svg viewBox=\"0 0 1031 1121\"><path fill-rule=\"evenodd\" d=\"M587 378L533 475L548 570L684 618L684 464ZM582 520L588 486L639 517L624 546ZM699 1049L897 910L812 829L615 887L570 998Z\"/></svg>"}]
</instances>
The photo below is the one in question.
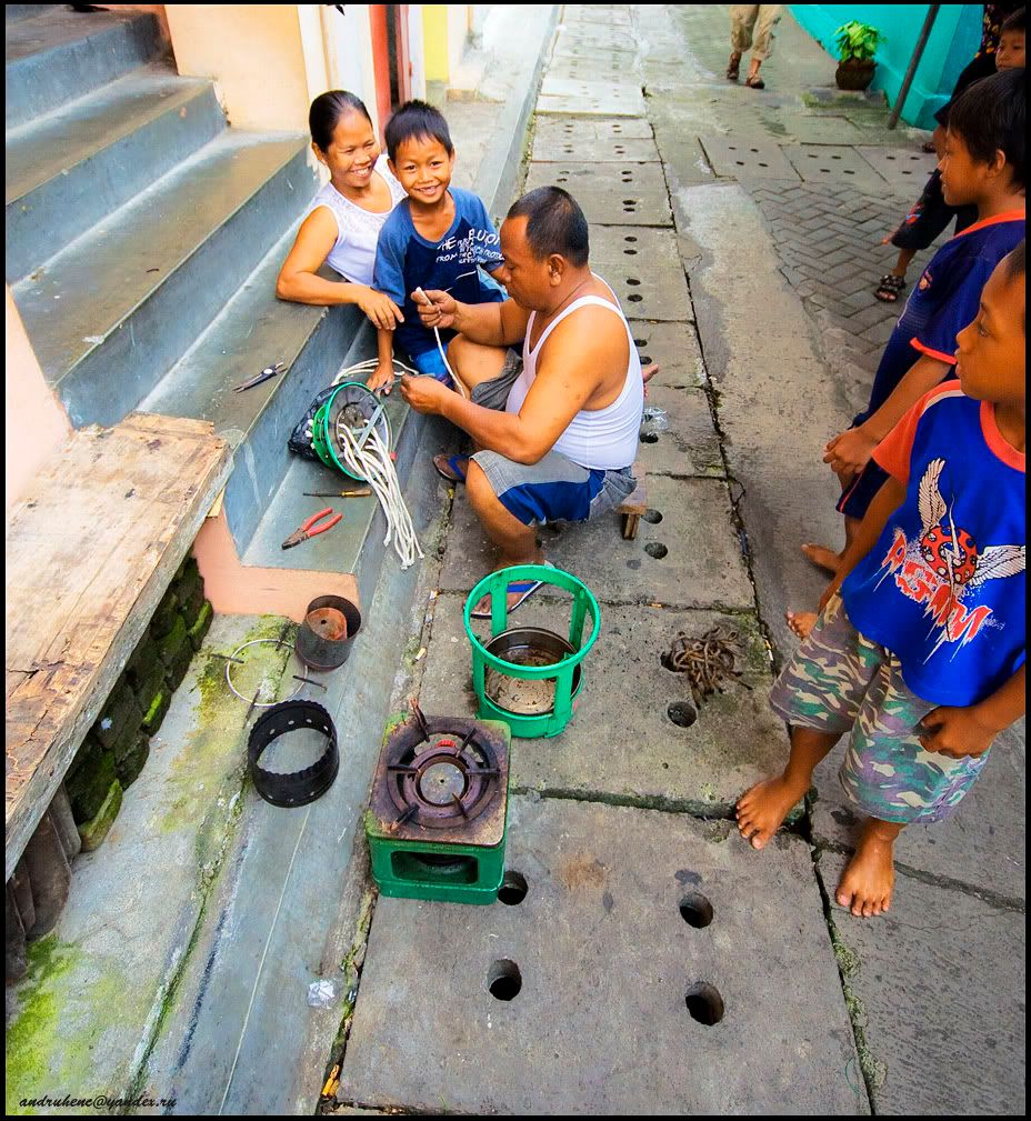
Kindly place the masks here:
<instances>
[{"instance_id":1,"label":"blue-grey vertical riser of the second step from the top","mask_svg":"<svg viewBox=\"0 0 1031 1121\"><path fill-rule=\"evenodd\" d=\"M184 113L185 110L185 113ZM225 118L198 90L142 128L8 204L7 279L13 284L214 139Z\"/></svg>"}]
</instances>

